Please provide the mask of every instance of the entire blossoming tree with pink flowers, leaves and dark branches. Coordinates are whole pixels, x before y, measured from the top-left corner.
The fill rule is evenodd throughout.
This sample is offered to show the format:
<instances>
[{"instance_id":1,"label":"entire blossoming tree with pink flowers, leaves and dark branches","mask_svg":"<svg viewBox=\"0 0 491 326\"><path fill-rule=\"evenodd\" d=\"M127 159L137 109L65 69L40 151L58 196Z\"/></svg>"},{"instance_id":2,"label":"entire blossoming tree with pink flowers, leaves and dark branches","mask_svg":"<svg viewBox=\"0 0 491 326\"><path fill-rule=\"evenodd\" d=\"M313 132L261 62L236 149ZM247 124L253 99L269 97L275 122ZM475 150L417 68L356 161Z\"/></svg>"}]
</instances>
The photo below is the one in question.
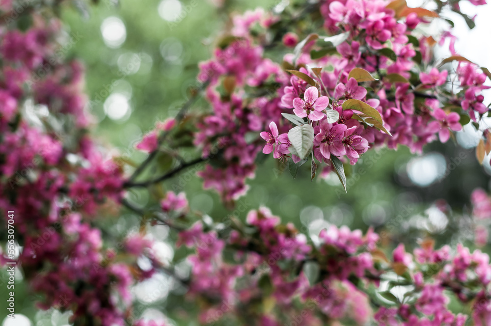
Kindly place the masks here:
<instances>
[{"instance_id":1,"label":"entire blossoming tree with pink flowers, leaves and dark branches","mask_svg":"<svg viewBox=\"0 0 491 326\"><path fill-rule=\"evenodd\" d=\"M7 212L16 218L15 237L1 232L0 263L18 263L40 309L70 311L76 326L171 325L140 320L131 293L166 273L199 306L191 319L202 325L491 325L491 265L480 249L425 239L412 253L403 243L390 252L385 233L334 225L310 237L265 207L215 222L168 184L205 163L203 187L233 207L273 154L292 185L308 163L312 180L336 174L346 190L345 166L367 151L421 153L463 125L479 128L491 74L455 52L445 12L473 27L460 0L430 1L432 10L405 0L298 1L234 16L200 64L188 102L136 145L148 155L129 174L130 160L108 157L88 132L82 64L56 53L58 2L27 4L21 19L0 1L1 230ZM442 31L426 33L435 21ZM445 40L451 56L438 58L434 48ZM190 113L200 96L209 110ZM194 159L185 160L190 147ZM477 159L490 151L485 131ZM174 164L152 174L163 153ZM141 188L160 207L128 199ZM471 245L484 245L491 199L475 190L471 203ZM445 204L434 208L452 217ZM96 223L108 210L137 215L139 232L113 239ZM159 259L145 236L156 225L176 235L188 272ZM11 255L14 243L20 249Z\"/></svg>"}]
</instances>

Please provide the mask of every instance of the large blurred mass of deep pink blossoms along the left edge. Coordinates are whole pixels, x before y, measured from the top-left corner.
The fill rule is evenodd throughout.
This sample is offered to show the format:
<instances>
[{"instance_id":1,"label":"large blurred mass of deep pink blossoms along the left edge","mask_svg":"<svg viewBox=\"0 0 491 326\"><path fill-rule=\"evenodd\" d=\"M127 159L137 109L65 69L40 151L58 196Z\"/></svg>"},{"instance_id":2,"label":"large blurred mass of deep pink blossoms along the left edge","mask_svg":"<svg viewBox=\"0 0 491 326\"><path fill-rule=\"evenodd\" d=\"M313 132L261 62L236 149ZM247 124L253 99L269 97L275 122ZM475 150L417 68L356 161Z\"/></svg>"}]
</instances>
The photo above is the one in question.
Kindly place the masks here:
<instances>
[{"instance_id":1,"label":"large blurred mass of deep pink blossoms along the left edge","mask_svg":"<svg viewBox=\"0 0 491 326\"><path fill-rule=\"evenodd\" d=\"M39 308L71 310L71 320L81 325L126 325L131 287L157 266L152 244L140 235L128 239L119 253L129 259L118 262L118 252L108 249L114 242L92 224L119 205L124 178L122 167L85 135L91 117L84 109L82 65L60 55L61 24L49 10L26 11L32 24L20 31L8 23L14 9L4 2L0 212L15 212L15 239L22 246L17 266L42 298ZM136 264L143 254L151 270ZM1 265L9 260L2 252Z\"/></svg>"}]
</instances>

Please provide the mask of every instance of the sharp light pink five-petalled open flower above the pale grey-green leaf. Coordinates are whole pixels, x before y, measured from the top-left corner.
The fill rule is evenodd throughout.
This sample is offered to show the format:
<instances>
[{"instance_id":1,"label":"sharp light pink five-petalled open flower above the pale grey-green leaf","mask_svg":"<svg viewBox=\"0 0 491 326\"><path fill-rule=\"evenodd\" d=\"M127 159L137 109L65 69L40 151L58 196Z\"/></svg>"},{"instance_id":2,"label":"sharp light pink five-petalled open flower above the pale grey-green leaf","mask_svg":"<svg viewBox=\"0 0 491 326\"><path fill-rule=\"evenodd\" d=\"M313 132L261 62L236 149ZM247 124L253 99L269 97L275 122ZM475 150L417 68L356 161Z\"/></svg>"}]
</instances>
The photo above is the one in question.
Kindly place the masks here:
<instances>
[{"instance_id":1,"label":"sharp light pink five-petalled open flower above the pale grey-green leaf","mask_svg":"<svg viewBox=\"0 0 491 326\"><path fill-rule=\"evenodd\" d=\"M319 97L319 91L312 86L307 88L303 94L303 100L300 97L293 100L293 111L300 118L308 117L312 121L318 121L324 117L322 110L326 109L328 105L329 98L327 96Z\"/></svg>"}]
</instances>

